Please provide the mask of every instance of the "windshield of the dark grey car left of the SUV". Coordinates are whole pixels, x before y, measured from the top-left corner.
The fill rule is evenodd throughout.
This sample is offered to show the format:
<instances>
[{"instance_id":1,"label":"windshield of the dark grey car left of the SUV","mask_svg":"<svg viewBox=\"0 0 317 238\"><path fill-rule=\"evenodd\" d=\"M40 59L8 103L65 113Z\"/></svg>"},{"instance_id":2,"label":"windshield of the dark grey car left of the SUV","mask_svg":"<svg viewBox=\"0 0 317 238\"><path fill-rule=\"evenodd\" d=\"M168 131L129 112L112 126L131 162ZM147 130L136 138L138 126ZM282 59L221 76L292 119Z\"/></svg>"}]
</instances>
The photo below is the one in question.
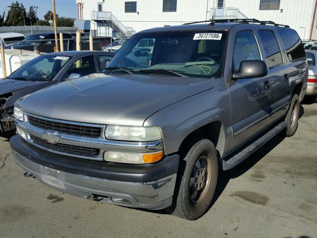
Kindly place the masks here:
<instances>
[{"instance_id":1,"label":"windshield of the dark grey car left of the SUV","mask_svg":"<svg viewBox=\"0 0 317 238\"><path fill-rule=\"evenodd\" d=\"M58 55L44 55L30 60L10 74L9 79L48 82L70 60L70 57Z\"/></svg>"}]
</instances>

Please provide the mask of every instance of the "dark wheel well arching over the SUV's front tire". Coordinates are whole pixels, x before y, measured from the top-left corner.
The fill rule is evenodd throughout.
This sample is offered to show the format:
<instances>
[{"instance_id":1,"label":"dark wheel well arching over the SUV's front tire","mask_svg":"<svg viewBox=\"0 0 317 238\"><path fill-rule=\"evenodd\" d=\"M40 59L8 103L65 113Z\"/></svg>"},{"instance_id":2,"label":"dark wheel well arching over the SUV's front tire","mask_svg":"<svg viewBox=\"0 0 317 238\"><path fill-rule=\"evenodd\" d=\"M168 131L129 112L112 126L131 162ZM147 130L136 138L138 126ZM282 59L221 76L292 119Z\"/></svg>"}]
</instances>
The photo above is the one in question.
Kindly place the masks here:
<instances>
[{"instance_id":1,"label":"dark wheel well arching over the SUV's front tire","mask_svg":"<svg viewBox=\"0 0 317 238\"><path fill-rule=\"evenodd\" d=\"M224 151L224 129L221 121L212 121L186 136L179 147L179 154L186 155L188 150L197 142L198 139L209 139L216 147L216 150L222 155Z\"/></svg>"}]
</instances>

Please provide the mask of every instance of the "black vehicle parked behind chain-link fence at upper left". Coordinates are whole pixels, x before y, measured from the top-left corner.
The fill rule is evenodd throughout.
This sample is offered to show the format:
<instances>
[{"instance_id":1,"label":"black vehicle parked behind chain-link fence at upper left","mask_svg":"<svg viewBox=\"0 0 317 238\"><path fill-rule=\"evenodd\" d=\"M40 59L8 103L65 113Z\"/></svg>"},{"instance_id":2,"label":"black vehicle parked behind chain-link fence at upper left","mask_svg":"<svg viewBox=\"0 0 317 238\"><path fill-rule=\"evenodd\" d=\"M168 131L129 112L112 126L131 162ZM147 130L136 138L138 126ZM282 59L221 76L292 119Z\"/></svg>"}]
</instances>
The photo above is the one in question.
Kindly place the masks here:
<instances>
[{"instance_id":1,"label":"black vehicle parked behind chain-link fence at upper left","mask_svg":"<svg viewBox=\"0 0 317 238\"><path fill-rule=\"evenodd\" d=\"M59 39L59 33L57 34ZM63 39L72 39L68 33L63 33ZM72 39L72 41L74 41ZM11 46L11 49L19 49L26 51L34 51L34 47L38 47L40 52L52 53L55 47L55 34L54 33L40 33L27 36L23 41L18 44ZM71 47L74 48L73 44ZM67 43L64 42L64 49L67 49ZM88 48L89 49L89 48ZM71 50L71 49L69 49Z\"/></svg>"}]
</instances>

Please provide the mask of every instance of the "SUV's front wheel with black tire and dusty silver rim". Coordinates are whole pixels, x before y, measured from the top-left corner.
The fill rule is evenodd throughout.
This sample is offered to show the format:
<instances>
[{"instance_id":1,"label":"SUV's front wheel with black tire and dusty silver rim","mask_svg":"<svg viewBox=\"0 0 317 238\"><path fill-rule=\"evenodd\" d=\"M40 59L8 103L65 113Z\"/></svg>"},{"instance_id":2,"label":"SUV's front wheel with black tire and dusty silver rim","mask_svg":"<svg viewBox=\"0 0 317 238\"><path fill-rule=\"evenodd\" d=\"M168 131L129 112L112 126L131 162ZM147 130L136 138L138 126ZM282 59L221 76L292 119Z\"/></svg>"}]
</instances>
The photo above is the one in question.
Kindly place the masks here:
<instances>
[{"instance_id":1,"label":"SUV's front wheel with black tire and dusty silver rim","mask_svg":"<svg viewBox=\"0 0 317 238\"><path fill-rule=\"evenodd\" d=\"M196 220L204 215L215 191L218 178L218 156L212 142L195 143L180 163L174 201L166 210L180 218Z\"/></svg>"}]
</instances>

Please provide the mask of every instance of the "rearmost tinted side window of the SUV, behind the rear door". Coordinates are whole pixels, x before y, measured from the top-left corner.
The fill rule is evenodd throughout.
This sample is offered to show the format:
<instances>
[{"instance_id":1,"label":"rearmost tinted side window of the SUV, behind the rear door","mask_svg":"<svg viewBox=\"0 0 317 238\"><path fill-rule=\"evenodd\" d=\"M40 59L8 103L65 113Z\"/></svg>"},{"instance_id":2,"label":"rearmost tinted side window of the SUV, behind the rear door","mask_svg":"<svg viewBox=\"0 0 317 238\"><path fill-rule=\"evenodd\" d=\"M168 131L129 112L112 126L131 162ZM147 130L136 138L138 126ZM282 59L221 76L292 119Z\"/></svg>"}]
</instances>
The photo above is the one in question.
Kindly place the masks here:
<instances>
[{"instance_id":1,"label":"rearmost tinted side window of the SUV, behind the rear door","mask_svg":"<svg viewBox=\"0 0 317 238\"><path fill-rule=\"evenodd\" d=\"M296 31L287 28L277 28L284 43L289 60L298 60L305 57L305 50Z\"/></svg>"}]
</instances>

